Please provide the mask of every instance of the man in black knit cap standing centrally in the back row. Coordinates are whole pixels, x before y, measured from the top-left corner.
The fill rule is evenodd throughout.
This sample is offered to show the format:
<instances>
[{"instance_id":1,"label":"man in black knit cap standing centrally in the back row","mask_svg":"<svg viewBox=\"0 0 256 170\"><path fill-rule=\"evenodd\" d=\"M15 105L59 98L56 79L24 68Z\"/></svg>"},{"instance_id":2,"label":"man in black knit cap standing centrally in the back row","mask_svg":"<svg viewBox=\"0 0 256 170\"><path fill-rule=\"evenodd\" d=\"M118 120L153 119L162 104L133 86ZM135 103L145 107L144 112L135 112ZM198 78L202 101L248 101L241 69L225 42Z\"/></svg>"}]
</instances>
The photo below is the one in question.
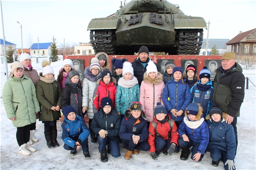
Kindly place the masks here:
<instances>
[{"instance_id":1,"label":"man in black knit cap standing centrally in the back row","mask_svg":"<svg viewBox=\"0 0 256 170\"><path fill-rule=\"evenodd\" d=\"M150 58L148 57L148 54L149 54L148 48L146 46L141 46L138 51L139 56L135 61L131 63L133 67L134 76L137 78L139 86L143 81L143 75L146 71L147 63L150 60ZM156 63L155 65L156 65L157 71L159 71Z\"/></svg>"}]
</instances>

